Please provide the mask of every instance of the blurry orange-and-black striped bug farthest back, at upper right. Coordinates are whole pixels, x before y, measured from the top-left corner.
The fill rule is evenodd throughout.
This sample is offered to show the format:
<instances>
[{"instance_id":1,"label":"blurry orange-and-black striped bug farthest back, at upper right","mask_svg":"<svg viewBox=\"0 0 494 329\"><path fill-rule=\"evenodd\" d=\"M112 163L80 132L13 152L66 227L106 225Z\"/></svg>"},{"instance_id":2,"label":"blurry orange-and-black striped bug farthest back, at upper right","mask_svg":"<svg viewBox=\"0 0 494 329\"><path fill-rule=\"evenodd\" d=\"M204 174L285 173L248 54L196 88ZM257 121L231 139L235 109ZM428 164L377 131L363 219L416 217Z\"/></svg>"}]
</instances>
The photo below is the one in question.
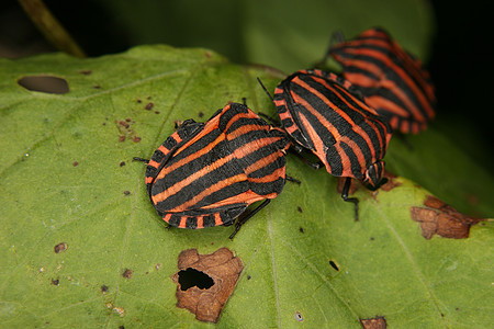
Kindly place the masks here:
<instances>
[{"instance_id":1,"label":"blurry orange-and-black striped bug farthest back, at upper right","mask_svg":"<svg viewBox=\"0 0 494 329\"><path fill-rule=\"evenodd\" d=\"M329 47L343 76L358 87L366 103L388 117L393 129L416 134L435 116L436 95L420 60L382 29Z\"/></svg>"}]
</instances>

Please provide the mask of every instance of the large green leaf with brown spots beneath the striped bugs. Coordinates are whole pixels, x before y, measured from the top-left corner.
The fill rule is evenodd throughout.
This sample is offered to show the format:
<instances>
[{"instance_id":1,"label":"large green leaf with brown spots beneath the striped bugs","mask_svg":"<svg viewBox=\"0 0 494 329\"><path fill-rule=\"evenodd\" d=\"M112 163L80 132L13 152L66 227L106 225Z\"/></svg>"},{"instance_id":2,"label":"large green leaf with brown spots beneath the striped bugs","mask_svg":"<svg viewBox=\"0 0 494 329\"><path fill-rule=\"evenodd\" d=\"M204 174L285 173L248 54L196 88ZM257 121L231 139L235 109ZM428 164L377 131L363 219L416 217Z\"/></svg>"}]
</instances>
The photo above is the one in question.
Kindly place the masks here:
<instances>
[{"instance_id":1,"label":"large green leaf with brown spots beneath the striped bugs","mask_svg":"<svg viewBox=\"0 0 494 329\"><path fill-rule=\"evenodd\" d=\"M360 189L356 223L336 178L289 155L288 174L302 184L287 183L233 241L232 227L165 229L145 192L145 166L131 159L149 158L175 121L205 121L229 101L246 98L254 111L274 115L256 77L273 90L278 71L206 49L142 46L85 60L1 59L0 75L3 326L210 327L176 307L170 276L182 250L222 247L245 269L221 328L359 328L375 316L393 327L491 325L492 223L474 226L468 239L424 239L409 208L428 192L405 178L390 192ZM36 75L64 78L70 91L16 83ZM493 179L479 164L434 129L411 140L412 150L400 140L390 146L395 173L438 186L453 206L463 200L453 190L483 185L479 211L493 213L485 202ZM67 250L56 253L61 242Z\"/></svg>"}]
</instances>

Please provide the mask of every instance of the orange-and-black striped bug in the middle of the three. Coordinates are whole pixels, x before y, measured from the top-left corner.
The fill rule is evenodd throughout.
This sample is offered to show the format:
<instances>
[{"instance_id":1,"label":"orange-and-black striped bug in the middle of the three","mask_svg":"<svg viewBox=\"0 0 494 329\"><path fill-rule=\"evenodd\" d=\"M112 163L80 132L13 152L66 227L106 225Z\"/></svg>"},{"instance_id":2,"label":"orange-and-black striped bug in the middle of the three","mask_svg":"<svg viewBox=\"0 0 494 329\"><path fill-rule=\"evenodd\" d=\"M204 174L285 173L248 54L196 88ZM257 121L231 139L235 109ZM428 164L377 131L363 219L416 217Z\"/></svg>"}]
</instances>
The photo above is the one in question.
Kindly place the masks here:
<instances>
[{"instance_id":1,"label":"orange-and-black striped bug in the middle of the three","mask_svg":"<svg viewBox=\"0 0 494 329\"><path fill-rule=\"evenodd\" d=\"M391 128L356 93L350 82L322 70L300 70L274 90L282 126L302 147L314 152L326 170L346 177L341 197L348 197L351 178L378 188Z\"/></svg>"}]
</instances>

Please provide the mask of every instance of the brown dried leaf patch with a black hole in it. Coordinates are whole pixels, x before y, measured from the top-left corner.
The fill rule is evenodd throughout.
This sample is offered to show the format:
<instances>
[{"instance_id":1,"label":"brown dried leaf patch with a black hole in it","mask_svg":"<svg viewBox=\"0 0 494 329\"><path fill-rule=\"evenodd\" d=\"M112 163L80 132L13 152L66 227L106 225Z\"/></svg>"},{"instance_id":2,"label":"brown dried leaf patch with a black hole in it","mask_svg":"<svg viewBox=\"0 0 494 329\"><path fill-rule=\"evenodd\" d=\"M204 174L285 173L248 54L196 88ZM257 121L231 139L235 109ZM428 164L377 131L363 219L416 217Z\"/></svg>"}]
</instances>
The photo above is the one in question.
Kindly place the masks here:
<instances>
[{"instance_id":1,"label":"brown dried leaf patch with a black hole in it","mask_svg":"<svg viewBox=\"0 0 494 329\"><path fill-rule=\"evenodd\" d=\"M177 307L188 309L200 321L216 322L244 269L240 259L228 248L211 254L188 249L179 254L178 269L171 276L177 284Z\"/></svg>"}]
</instances>

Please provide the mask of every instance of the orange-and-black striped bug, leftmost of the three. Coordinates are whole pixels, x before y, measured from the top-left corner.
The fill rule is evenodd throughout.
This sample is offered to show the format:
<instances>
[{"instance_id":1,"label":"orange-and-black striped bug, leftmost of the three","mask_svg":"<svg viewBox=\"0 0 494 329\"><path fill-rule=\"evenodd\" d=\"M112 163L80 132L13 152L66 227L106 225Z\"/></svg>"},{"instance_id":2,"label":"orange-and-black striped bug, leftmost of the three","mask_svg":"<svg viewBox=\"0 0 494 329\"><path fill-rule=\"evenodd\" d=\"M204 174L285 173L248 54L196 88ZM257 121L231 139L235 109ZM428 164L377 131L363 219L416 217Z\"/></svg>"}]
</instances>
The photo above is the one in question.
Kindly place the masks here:
<instances>
[{"instance_id":1,"label":"orange-and-black striped bug, leftmost of the three","mask_svg":"<svg viewBox=\"0 0 494 329\"><path fill-rule=\"evenodd\" d=\"M165 140L147 163L147 193L165 222L192 229L232 225L263 201L237 220L233 238L283 190L290 145L284 131L246 105L227 104L206 123L183 122Z\"/></svg>"}]
</instances>

